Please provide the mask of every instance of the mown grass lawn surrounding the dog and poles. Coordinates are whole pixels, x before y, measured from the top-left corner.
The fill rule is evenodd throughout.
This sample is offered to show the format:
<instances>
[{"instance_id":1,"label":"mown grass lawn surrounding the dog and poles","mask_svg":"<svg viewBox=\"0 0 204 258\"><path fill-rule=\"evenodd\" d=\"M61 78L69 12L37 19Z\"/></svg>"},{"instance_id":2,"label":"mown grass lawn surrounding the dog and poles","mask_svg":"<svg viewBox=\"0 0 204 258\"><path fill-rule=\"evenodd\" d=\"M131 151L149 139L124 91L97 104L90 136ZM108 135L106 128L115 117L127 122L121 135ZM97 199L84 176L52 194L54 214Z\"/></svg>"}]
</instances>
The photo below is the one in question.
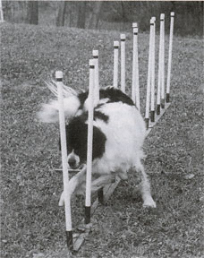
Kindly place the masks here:
<instances>
[{"instance_id":1,"label":"mown grass lawn surrounding the dog and poles","mask_svg":"<svg viewBox=\"0 0 204 258\"><path fill-rule=\"evenodd\" d=\"M62 175L58 125L36 112L52 97L43 80L56 69L64 82L86 89L89 57L99 50L101 86L112 83L116 31L1 24L1 249L2 257L66 257L64 209L57 206ZM158 42L158 38L157 38ZM167 43L167 38L166 38ZM135 176L122 182L93 219L76 257L203 257L203 56L201 39L174 38L172 106L145 142L157 209L144 210ZM140 34L140 87L144 112L149 35ZM127 85L132 78L127 35ZM167 53L167 44L166 44ZM166 59L167 60L167 59ZM193 174L192 179L185 179ZM74 227L83 198L73 198Z\"/></svg>"}]
</instances>

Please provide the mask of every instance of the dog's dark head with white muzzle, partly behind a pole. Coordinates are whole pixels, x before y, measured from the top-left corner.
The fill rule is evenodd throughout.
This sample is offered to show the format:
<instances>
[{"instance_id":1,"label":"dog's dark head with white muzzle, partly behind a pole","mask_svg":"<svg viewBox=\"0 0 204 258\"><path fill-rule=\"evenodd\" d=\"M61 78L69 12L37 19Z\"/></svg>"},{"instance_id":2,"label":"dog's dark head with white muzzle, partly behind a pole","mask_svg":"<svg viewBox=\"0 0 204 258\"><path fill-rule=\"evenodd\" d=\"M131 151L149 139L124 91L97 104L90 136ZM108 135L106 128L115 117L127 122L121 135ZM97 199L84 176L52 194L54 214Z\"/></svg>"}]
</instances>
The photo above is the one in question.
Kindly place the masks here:
<instances>
[{"instance_id":1,"label":"dog's dark head with white muzzle, partly behind a pole","mask_svg":"<svg viewBox=\"0 0 204 258\"><path fill-rule=\"evenodd\" d=\"M68 163L71 168L79 168L87 161L88 114L72 118L66 125L66 141L68 150ZM105 151L106 136L98 127L93 126L93 152L92 160L99 159Z\"/></svg>"}]
</instances>

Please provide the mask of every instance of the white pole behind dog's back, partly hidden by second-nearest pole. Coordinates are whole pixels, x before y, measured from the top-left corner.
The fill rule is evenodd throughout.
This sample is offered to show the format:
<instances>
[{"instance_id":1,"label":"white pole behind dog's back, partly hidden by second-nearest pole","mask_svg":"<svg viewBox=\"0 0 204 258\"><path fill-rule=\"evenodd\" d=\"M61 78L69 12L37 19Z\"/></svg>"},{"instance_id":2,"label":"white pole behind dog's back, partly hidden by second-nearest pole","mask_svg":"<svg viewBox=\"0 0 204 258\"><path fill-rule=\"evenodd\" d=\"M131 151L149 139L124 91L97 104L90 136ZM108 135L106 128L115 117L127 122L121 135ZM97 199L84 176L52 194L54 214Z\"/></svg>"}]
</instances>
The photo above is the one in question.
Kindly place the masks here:
<instances>
[{"instance_id":1,"label":"white pole behind dog's back, partly hidden by second-nearest pole","mask_svg":"<svg viewBox=\"0 0 204 258\"><path fill-rule=\"evenodd\" d=\"M93 58L95 60L95 74L94 74L94 107L99 102L99 71L98 71L98 50L93 50Z\"/></svg>"}]
</instances>

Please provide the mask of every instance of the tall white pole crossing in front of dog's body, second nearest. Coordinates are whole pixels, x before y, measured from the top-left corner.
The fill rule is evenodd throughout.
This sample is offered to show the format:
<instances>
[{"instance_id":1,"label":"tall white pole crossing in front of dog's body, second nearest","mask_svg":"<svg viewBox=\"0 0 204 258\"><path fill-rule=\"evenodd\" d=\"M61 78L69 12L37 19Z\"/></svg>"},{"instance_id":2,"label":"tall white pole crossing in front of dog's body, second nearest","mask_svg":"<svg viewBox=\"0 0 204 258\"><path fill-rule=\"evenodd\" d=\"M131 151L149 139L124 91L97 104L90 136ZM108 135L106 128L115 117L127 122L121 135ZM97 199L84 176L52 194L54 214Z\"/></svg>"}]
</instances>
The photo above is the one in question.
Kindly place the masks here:
<instances>
[{"instance_id":1,"label":"tall white pole crossing in front of dog's body, second nearest","mask_svg":"<svg viewBox=\"0 0 204 258\"><path fill-rule=\"evenodd\" d=\"M87 141L85 224L90 223L92 144L93 144L94 73L95 73L94 64L95 64L95 61L93 59L90 59L89 60L89 117L88 117L88 141Z\"/></svg>"}]
</instances>

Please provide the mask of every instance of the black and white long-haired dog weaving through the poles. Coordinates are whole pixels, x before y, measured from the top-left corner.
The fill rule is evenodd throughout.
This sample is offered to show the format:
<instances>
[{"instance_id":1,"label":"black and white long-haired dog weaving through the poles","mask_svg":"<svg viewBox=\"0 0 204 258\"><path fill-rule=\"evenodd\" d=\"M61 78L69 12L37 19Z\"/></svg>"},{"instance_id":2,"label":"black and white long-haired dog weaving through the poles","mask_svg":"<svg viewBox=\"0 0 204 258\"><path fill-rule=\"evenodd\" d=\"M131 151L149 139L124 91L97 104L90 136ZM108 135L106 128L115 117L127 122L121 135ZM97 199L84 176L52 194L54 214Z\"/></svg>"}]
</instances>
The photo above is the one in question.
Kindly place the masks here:
<instances>
[{"instance_id":1,"label":"black and white long-haired dog weaving through the poles","mask_svg":"<svg viewBox=\"0 0 204 258\"><path fill-rule=\"evenodd\" d=\"M54 82L55 83L55 82ZM65 89L65 88L64 88ZM68 89L68 88L67 88ZM88 92L64 94L68 163L71 168L81 168L69 181L69 193L81 193L86 184L86 159L88 135ZM142 145L145 139L145 123L139 110L121 90L108 87L99 92L99 102L95 103L93 123L93 163L91 190L97 191L111 183L112 172L127 179L132 168L140 176L140 190L143 206L156 207L151 197L148 176L141 159L144 157ZM46 123L58 120L57 100L45 104L38 118ZM64 193L59 204L64 202Z\"/></svg>"}]
</instances>

